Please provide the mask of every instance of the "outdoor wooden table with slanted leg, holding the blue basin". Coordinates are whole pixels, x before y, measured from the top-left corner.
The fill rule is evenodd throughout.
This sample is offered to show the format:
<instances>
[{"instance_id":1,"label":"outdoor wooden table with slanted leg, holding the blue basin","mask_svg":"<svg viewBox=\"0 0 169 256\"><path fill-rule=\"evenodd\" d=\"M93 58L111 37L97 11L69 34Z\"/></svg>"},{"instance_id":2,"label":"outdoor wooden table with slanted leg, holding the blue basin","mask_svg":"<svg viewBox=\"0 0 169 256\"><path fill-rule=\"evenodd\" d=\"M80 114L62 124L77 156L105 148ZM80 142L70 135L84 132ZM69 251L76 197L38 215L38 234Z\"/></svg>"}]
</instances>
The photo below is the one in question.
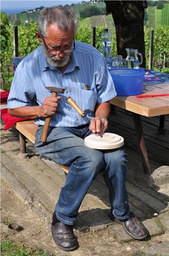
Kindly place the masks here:
<instances>
[{"instance_id":1,"label":"outdoor wooden table with slanted leg, holding the blue basin","mask_svg":"<svg viewBox=\"0 0 169 256\"><path fill-rule=\"evenodd\" d=\"M146 90L145 90L146 89ZM146 86L142 94L164 94L169 93L169 82ZM142 157L144 174L151 175L149 158L147 153L140 115L157 116L169 114L169 96L136 98L135 96L116 96L110 101L119 108L132 112L139 150Z\"/></svg>"}]
</instances>

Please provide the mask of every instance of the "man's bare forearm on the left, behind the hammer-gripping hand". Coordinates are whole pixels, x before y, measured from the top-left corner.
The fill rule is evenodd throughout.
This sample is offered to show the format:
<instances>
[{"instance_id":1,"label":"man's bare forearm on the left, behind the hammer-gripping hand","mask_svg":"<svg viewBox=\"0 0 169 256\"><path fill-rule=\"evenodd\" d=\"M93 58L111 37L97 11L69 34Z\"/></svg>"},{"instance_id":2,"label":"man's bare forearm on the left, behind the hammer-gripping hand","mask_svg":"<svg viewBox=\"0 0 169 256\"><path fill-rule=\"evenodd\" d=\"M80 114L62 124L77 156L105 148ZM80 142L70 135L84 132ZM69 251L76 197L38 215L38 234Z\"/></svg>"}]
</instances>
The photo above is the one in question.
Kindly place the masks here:
<instances>
[{"instance_id":1,"label":"man's bare forearm on the left, behind the hammer-gripping hand","mask_svg":"<svg viewBox=\"0 0 169 256\"><path fill-rule=\"evenodd\" d=\"M40 108L41 106L21 106L15 109L8 109L8 113L13 116L17 116L17 118L40 118Z\"/></svg>"}]
</instances>

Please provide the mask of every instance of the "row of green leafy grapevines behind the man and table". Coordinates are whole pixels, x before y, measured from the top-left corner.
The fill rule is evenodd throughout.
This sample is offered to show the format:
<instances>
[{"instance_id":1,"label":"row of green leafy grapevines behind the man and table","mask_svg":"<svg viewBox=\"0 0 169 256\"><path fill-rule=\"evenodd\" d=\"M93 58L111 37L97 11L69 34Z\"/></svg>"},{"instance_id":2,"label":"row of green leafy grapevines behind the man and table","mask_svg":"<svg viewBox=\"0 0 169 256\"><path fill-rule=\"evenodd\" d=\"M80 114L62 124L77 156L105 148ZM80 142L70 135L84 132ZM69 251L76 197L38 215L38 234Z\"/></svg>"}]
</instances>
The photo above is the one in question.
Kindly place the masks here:
<instances>
[{"instance_id":1,"label":"row of green leafy grapevines behind the man and table","mask_svg":"<svg viewBox=\"0 0 169 256\"><path fill-rule=\"evenodd\" d=\"M18 38L19 38L19 56L25 57L30 54L35 48L39 46L39 41L35 35L35 31L38 29L37 23L31 22L27 25L18 26ZM96 27L96 40L95 47L99 51L102 51L102 34L104 27ZM165 55L165 67L169 66L169 41L167 40L169 35L169 26L159 26L154 30L154 55L153 55L153 69L158 68L161 70L163 65L163 59ZM84 26L79 21L79 29L75 36L75 40L86 42L91 45L91 26ZM147 67L149 63L149 44L150 44L150 29L144 27L144 40L146 48L146 60ZM13 29L8 24L7 16L1 12L1 71L7 73L7 67L12 67L11 59L13 57ZM117 55L116 37L112 38L112 55ZM7 76L5 76L7 77ZM8 78L7 81L11 81Z\"/></svg>"}]
</instances>

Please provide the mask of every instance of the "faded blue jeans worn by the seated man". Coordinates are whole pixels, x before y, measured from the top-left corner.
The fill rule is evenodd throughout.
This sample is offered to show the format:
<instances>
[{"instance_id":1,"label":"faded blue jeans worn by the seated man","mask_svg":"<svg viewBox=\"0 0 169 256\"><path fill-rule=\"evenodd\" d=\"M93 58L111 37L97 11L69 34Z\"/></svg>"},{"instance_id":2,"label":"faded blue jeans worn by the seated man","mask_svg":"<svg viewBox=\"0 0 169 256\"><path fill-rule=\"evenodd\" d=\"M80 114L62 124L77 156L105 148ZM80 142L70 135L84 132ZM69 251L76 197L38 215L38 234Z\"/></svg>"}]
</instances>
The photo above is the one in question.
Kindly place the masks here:
<instances>
[{"instance_id":1,"label":"faded blue jeans worn by the seated man","mask_svg":"<svg viewBox=\"0 0 169 256\"><path fill-rule=\"evenodd\" d=\"M89 125L79 127L50 127L46 142L41 142L43 126L35 136L35 148L40 155L70 166L64 187L56 204L58 220L73 225L81 202L95 179L103 172L108 187L110 204L117 219L129 216L126 191L127 160L123 148L95 150L84 144L91 134Z\"/></svg>"}]
</instances>

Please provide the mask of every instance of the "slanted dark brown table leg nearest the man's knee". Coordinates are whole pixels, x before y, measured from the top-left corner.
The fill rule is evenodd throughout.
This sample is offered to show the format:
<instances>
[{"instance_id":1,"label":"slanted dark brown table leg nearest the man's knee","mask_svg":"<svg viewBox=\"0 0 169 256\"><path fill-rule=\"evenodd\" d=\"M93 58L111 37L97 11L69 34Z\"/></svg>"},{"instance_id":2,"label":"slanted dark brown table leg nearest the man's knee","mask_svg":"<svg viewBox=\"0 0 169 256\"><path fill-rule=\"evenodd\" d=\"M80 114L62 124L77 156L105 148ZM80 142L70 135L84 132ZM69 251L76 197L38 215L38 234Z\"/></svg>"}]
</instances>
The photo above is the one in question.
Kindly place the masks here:
<instances>
[{"instance_id":1,"label":"slanted dark brown table leg nearest the man's knee","mask_svg":"<svg viewBox=\"0 0 169 256\"><path fill-rule=\"evenodd\" d=\"M143 172L146 175L151 175L149 158L148 158L146 144L144 141L144 134L142 131L140 115L136 114L136 113L132 113L132 117L133 117L133 121L134 121L134 125L135 125L137 140L138 140L138 144L139 144L139 150L140 150L141 157L142 157Z\"/></svg>"}]
</instances>

